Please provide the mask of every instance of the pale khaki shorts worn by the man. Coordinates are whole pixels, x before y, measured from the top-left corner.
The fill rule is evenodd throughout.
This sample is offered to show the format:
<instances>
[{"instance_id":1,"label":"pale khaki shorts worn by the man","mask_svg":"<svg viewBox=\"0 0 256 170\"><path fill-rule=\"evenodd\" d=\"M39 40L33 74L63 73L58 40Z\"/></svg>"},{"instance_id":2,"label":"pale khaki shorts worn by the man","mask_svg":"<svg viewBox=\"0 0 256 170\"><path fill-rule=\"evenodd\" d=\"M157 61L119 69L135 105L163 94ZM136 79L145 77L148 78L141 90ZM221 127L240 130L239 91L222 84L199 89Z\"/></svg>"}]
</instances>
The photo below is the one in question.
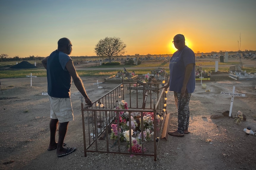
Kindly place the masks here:
<instances>
[{"instance_id":1,"label":"pale khaki shorts worn by the man","mask_svg":"<svg viewBox=\"0 0 256 170\"><path fill-rule=\"evenodd\" d=\"M60 123L74 120L70 98L55 98L49 96L51 119L58 119Z\"/></svg>"}]
</instances>

